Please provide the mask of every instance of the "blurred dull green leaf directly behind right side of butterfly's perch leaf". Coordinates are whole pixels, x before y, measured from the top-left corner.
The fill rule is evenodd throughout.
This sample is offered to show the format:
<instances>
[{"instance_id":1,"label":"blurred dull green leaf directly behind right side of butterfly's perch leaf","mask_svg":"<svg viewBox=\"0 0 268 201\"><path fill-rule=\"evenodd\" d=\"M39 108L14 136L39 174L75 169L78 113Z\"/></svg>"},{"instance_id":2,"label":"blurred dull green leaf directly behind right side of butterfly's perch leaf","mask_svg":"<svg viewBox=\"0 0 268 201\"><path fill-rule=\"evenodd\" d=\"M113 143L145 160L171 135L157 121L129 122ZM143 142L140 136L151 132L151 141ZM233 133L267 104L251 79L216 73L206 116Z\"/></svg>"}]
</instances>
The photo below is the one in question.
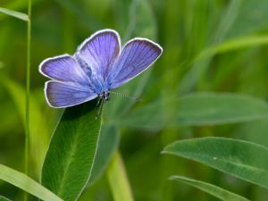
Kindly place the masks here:
<instances>
[{"instance_id":1,"label":"blurred dull green leaf directly behind right side of butterfly's perch leaf","mask_svg":"<svg viewBox=\"0 0 268 201\"><path fill-rule=\"evenodd\" d=\"M98 180L114 154L114 150L119 144L119 133L113 126L102 125L98 147L96 151L96 160L88 184L91 186Z\"/></svg>"}]
</instances>

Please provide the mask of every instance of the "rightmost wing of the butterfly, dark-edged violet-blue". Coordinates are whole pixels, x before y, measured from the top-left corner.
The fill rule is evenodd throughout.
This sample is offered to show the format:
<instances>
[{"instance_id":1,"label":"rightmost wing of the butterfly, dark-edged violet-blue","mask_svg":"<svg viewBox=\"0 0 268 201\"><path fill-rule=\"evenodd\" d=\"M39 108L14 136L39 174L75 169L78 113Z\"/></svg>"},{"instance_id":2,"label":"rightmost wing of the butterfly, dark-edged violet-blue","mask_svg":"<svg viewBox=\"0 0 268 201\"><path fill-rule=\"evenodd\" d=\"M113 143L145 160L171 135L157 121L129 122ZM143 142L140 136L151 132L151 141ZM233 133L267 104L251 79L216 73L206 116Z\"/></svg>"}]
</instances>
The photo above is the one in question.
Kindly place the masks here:
<instances>
[{"instance_id":1,"label":"rightmost wing of the butterfly, dark-edged violet-blue","mask_svg":"<svg viewBox=\"0 0 268 201\"><path fill-rule=\"evenodd\" d=\"M109 71L108 85L111 89L118 88L132 80L156 61L163 49L153 41L145 38L134 38L122 49L113 68Z\"/></svg>"}]
</instances>

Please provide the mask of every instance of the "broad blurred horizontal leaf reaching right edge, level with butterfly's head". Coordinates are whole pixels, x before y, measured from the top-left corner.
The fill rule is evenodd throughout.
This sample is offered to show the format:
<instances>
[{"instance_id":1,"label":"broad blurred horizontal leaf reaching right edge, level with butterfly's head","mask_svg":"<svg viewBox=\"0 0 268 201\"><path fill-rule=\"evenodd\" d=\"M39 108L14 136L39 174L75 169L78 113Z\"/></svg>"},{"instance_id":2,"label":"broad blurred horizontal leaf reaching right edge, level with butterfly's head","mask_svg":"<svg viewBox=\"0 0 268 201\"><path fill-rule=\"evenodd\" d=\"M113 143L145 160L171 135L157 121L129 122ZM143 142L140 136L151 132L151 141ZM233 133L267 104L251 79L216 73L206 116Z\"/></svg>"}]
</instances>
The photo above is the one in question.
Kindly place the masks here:
<instances>
[{"instance_id":1,"label":"broad blurred horizontal leaf reaching right edge, level with butterfly's head","mask_svg":"<svg viewBox=\"0 0 268 201\"><path fill-rule=\"evenodd\" d=\"M139 107L118 123L121 126L159 130L165 125L176 127L254 121L267 115L268 105L261 99L239 94L193 93Z\"/></svg>"}]
</instances>

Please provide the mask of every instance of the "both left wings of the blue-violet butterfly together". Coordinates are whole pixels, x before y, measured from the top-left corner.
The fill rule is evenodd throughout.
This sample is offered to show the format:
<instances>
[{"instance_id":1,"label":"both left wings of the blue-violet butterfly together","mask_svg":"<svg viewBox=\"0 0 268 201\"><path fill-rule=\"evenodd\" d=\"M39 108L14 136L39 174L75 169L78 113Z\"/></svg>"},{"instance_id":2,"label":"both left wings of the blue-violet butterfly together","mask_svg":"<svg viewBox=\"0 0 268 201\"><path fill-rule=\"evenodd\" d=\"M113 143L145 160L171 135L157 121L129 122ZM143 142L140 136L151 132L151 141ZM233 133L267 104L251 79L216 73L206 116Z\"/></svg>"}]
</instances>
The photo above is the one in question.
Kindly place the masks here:
<instances>
[{"instance_id":1,"label":"both left wings of the blue-violet butterfly together","mask_svg":"<svg viewBox=\"0 0 268 201\"><path fill-rule=\"evenodd\" d=\"M53 79L45 86L46 102L52 107L79 105L97 96L89 86L88 76L69 54L46 59L39 71Z\"/></svg>"}]
</instances>

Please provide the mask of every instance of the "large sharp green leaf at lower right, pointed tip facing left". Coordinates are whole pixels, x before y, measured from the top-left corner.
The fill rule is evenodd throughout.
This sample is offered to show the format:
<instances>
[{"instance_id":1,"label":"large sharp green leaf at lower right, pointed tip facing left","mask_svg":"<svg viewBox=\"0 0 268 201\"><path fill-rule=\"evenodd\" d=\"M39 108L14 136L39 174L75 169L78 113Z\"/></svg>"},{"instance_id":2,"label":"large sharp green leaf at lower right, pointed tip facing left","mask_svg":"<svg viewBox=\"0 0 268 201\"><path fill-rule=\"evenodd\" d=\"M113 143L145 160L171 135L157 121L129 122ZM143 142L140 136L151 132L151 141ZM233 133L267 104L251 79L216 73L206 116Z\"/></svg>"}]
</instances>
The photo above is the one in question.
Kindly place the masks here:
<instances>
[{"instance_id":1,"label":"large sharp green leaf at lower right, pointed tip facing left","mask_svg":"<svg viewBox=\"0 0 268 201\"><path fill-rule=\"evenodd\" d=\"M238 139L193 138L168 145L163 154L179 155L268 188L268 148Z\"/></svg>"}]
</instances>

